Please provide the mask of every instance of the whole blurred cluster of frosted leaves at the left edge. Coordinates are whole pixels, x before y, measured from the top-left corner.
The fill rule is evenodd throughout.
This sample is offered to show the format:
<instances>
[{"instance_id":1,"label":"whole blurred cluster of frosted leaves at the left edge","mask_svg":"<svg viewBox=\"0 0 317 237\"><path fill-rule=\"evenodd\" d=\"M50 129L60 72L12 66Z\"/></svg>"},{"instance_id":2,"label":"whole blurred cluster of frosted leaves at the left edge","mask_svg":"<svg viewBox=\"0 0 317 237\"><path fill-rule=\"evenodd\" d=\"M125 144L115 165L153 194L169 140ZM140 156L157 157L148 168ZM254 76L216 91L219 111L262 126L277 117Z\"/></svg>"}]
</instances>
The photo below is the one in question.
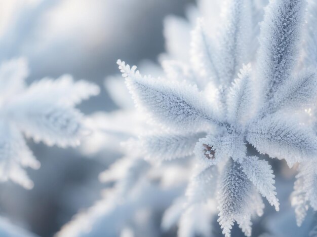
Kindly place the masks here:
<instances>
[{"instance_id":1,"label":"whole blurred cluster of frosted leaves at the left edge","mask_svg":"<svg viewBox=\"0 0 317 237\"><path fill-rule=\"evenodd\" d=\"M26 86L25 59L6 61L0 66L0 180L12 180L32 188L24 167L40 164L26 145L24 136L45 144L75 146L87 130L75 105L97 95L99 88L70 75L57 80L44 78Z\"/></svg>"}]
</instances>

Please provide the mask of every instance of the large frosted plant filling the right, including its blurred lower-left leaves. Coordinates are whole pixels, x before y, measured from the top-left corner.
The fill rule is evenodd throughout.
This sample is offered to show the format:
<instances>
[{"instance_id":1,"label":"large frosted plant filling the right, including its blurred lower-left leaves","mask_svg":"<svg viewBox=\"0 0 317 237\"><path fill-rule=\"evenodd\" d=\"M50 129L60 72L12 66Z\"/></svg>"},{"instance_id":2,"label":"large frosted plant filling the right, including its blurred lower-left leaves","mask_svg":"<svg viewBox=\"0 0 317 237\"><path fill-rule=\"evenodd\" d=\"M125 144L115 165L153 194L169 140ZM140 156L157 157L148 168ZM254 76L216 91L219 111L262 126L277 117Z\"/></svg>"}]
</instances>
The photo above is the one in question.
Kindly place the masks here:
<instances>
[{"instance_id":1,"label":"large frosted plant filling the right, including its blurred lower-left leaves","mask_svg":"<svg viewBox=\"0 0 317 237\"><path fill-rule=\"evenodd\" d=\"M221 13L211 19L202 6ZM317 211L316 14L314 1L202 0L189 21L166 19L160 76L118 60L147 124L101 175L114 182L107 197L58 236L139 236L153 230L140 220L151 225L155 208L166 209L163 231L178 225L179 237L212 236L215 218L224 236L234 223L251 236L263 198L280 210L269 158L299 167L297 224Z\"/></svg>"}]
</instances>

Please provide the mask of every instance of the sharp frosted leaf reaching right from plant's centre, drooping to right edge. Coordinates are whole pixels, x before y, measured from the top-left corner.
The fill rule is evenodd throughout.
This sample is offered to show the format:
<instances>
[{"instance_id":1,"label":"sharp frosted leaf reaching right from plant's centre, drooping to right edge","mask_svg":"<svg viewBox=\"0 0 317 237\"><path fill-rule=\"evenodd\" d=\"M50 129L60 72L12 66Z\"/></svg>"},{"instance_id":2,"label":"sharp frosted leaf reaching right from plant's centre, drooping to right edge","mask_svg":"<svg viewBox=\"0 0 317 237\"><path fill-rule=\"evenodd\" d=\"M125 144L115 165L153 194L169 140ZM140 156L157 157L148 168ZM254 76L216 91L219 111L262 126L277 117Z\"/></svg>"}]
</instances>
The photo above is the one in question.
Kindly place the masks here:
<instances>
[{"instance_id":1,"label":"sharp frosted leaf reaching right from plant's centre, drooping to right edge","mask_svg":"<svg viewBox=\"0 0 317 237\"><path fill-rule=\"evenodd\" d=\"M283 115L267 116L248 128L247 141L262 154L285 159L289 166L313 159L317 152L316 136Z\"/></svg>"}]
</instances>

